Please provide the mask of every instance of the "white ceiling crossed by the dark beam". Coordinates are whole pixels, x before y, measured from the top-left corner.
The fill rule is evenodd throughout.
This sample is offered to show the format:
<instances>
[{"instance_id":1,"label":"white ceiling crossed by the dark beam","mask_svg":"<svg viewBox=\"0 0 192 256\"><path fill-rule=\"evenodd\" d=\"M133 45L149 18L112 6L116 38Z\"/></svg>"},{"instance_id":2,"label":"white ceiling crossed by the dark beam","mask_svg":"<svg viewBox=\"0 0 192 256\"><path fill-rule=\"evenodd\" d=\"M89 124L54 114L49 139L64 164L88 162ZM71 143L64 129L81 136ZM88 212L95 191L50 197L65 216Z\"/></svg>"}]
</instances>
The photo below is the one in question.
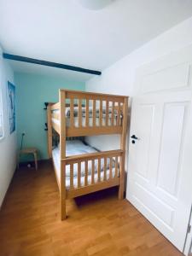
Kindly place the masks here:
<instances>
[{"instance_id":1,"label":"white ceiling crossed by the dark beam","mask_svg":"<svg viewBox=\"0 0 192 256\"><path fill-rule=\"evenodd\" d=\"M0 0L0 44L9 54L103 70L191 15L191 0L116 0L101 10L78 0ZM10 63L15 71L91 77Z\"/></svg>"}]
</instances>

